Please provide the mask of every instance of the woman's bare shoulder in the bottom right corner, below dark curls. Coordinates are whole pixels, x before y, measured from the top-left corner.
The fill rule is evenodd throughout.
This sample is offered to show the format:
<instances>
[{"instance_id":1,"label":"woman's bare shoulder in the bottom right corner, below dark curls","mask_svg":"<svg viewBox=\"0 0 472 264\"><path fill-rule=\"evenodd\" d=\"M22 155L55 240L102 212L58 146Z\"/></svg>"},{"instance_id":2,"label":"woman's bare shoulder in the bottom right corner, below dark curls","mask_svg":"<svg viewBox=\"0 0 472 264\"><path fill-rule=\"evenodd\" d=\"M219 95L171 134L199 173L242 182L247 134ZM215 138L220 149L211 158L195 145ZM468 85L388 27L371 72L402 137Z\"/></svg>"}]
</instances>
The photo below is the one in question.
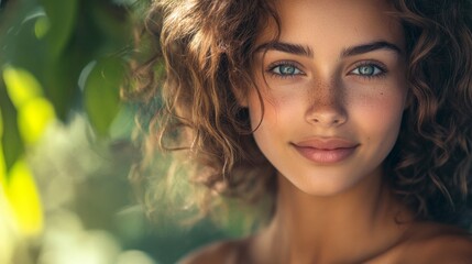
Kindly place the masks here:
<instances>
[{"instance_id":1,"label":"woman's bare shoulder in the bottom right corner, below dark curls","mask_svg":"<svg viewBox=\"0 0 472 264\"><path fill-rule=\"evenodd\" d=\"M472 264L472 235L465 230L427 223L406 243L408 263Z\"/></svg>"}]
</instances>

